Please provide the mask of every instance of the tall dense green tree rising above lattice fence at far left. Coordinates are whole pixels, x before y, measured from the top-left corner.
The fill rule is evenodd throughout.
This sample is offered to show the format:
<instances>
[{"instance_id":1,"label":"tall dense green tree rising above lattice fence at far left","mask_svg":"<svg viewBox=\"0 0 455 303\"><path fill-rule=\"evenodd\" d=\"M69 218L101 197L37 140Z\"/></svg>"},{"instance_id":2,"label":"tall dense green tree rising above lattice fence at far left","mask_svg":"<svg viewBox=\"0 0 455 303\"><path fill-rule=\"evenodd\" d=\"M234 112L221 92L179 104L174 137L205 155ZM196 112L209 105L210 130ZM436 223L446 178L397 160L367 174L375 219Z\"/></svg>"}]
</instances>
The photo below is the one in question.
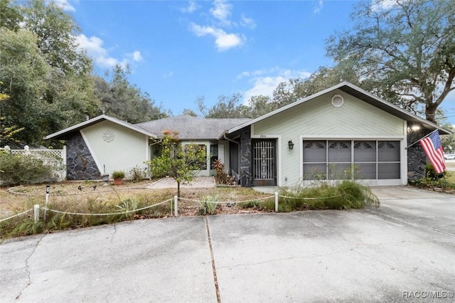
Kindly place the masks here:
<instances>
[{"instance_id":1,"label":"tall dense green tree rising above lattice fence at far left","mask_svg":"<svg viewBox=\"0 0 455 303\"><path fill-rule=\"evenodd\" d=\"M10 96L1 107L4 122L26 130L18 134L21 142L42 144L45 134L80 122L99 108L91 60L77 49L73 19L53 2L17 6L0 1L6 8L2 16L8 18L0 28L0 81Z\"/></svg>"}]
</instances>

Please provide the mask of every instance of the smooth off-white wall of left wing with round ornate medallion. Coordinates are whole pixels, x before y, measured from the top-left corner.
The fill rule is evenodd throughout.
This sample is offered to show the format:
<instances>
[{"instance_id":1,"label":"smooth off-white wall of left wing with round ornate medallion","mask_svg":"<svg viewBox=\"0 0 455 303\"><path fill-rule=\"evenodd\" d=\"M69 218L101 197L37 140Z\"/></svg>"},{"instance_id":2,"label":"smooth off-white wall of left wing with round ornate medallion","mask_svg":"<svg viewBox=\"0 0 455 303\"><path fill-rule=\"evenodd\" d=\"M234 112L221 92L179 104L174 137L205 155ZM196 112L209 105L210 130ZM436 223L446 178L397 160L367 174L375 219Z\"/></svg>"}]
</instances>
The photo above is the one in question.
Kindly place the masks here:
<instances>
[{"instance_id":1,"label":"smooth off-white wall of left wing with round ornate medallion","mask_svg":"<svg viewBox=\"0 0 455 303\"><path fill-rule=\"evenodd\" d=\"M103 139L107 130L114 134L112 142ZM134 166L146 168L144 161L149 159L149 137L146 135L110 121L86 127L81 134L101 173L104 172L103 166L109 175L112 171L124 171L127 174Z\"/></svg>"}]
</instances>

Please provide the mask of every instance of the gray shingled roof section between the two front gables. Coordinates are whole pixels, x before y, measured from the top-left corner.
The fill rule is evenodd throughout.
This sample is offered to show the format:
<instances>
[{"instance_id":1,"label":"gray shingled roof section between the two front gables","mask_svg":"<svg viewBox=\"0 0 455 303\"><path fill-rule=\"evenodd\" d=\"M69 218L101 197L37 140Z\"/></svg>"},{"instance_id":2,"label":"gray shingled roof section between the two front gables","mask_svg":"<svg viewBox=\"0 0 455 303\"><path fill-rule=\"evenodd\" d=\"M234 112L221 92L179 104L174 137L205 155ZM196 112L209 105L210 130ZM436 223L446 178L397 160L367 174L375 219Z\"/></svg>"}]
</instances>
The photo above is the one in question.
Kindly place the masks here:
<instances>
[{"instance_id":1,"label":"gray shingled roof section between the two front gables","mask_svg":"<svg viewBox=\"0 0 455 303\"><path fill-rule=\"evenodd\" d=\"M168 117L134 124L136 127L161 136L164 130L178 132L179 139L216 140L228 129L237 127L250 119L200 119L189 115Z\"/></svg>"}]
</instances>

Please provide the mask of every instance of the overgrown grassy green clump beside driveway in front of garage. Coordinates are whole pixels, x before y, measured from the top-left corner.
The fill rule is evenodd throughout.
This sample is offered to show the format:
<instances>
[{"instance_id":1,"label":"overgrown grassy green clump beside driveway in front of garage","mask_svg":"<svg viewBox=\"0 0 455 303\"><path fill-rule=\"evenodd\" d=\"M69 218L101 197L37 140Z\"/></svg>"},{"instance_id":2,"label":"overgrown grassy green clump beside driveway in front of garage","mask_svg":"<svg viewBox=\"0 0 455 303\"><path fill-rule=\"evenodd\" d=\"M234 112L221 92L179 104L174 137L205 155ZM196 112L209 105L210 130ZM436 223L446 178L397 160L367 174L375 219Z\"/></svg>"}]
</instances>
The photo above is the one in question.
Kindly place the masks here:
<instances>
[{"instance_id":1,"label":"overgrown grassy green clump beside driveway in front of garage","mask_svg":"<svg viewBox=\"0 0 455 303\"><path fill-rule=\"evenodd\" d=\"M365 205L380 206L368 186L352 180L336 184L321 183L320 186L296 188L293 191L282 191L279 200L279 211L306 211L309 209L350 209L363 208Z\"/></svg>"}]
</instances>

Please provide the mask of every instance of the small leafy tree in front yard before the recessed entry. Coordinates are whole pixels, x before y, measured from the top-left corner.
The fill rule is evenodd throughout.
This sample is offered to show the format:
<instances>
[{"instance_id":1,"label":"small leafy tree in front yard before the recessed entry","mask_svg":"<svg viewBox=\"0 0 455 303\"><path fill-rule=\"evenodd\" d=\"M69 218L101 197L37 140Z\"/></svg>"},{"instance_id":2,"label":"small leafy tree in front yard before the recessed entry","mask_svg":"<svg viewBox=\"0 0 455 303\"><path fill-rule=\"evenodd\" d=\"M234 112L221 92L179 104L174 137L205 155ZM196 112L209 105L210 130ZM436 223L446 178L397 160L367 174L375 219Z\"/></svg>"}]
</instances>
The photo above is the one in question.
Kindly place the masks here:
<instances>
[{"instance_id":1,"label":"small leafy tree in front yard before the recessed entry","mask_svg":"<svg viewBox=\"0 0 455 303\"><path fill-rule=\"evenodd\" d=\"M180 196L180 184L193 181L200 165L205 163L205 149L200 145L187 144L182 146L178 141L177 132L163 132L161 154L147 161L152 176L170 176L177 181L177 196Z\"/></svg>"}]
</instances>

